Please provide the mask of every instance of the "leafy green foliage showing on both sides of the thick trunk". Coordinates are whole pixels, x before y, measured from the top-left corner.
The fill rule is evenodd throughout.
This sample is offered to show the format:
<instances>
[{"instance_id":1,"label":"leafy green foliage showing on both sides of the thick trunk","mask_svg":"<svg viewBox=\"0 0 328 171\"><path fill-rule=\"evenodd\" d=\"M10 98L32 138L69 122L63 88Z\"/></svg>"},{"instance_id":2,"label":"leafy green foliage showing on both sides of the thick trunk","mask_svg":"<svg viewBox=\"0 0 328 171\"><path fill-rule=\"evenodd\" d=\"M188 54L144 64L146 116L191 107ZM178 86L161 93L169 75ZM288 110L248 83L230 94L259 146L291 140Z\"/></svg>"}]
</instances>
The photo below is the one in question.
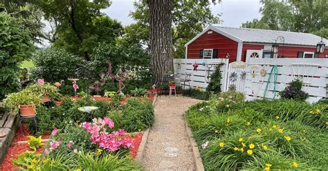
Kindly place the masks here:
<instances>
[{"instance_id":1,"label":"leafy green foliage showing on both sides of the thick trunk","mask_svg":"<svg viewBox=\"0 0 328 171\"><path fill-rule=\"evenodd\" d=\"M215 1L214 1L215 3ZM210 10L211 2L172 0L172 43L174 58L185 57L185 43L190 41L204 27L212 23L219 23L218 14L215 16ZM130 16L137 21L131 26L138 30L138 39L144 47L149 47L149 8L146 0L134 3L134 12ZM136 25L136 26L134 26ZM139 32L148 34L140 34Z\"/></svg>"}]
</instances>

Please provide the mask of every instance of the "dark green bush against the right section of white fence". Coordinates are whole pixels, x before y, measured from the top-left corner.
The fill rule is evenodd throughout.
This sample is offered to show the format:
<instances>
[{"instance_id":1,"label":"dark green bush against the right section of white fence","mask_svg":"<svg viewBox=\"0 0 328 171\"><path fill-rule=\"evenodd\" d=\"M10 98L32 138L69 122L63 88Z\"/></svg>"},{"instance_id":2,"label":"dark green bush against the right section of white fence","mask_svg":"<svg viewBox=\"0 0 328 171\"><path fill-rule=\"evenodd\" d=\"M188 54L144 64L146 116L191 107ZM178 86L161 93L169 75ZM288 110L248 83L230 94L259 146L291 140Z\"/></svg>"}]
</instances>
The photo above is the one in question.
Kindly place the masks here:
<instances>
[{"instance_id":1,"label":"dark green bush against the right section of white fence","mask_svg":"<svg viewBox=\"0 0 328 171\"><path fill-rule=\"evenodd\" d=\"M304 101L309 97L309 93L304 92L302 89L302 81L295 79L289 83L289 86L284 88L279 95L282 99L294 99L297 101Z\"/></svg>"}]
</instances>

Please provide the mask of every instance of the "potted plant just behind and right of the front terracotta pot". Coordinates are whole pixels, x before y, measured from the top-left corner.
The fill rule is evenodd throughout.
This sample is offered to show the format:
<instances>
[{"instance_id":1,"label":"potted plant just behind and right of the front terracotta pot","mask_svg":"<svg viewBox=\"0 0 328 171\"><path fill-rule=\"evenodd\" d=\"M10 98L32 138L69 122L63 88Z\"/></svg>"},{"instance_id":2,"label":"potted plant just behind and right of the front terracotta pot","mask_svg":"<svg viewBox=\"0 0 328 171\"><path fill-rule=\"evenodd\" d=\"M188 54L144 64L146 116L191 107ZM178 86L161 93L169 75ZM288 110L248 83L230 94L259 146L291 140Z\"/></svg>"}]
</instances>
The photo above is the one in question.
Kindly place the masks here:
<instances>
[{"instance_id":1,"label":"potted plant just behind and right of the front terracotta pot","mask_svg":"<svg viewBox=\"0 0 328 171\"><path fill-rule=\"evenodd\" d=\"M42 103L48 102L50 101L50 99L53 99L60 95L58 88L52 86L50 83L36 83L32 86L28 86L28 88L26 89L31 92L35 92L36 94L39 94L42 97Z\"/></svg>"}]
</instances>

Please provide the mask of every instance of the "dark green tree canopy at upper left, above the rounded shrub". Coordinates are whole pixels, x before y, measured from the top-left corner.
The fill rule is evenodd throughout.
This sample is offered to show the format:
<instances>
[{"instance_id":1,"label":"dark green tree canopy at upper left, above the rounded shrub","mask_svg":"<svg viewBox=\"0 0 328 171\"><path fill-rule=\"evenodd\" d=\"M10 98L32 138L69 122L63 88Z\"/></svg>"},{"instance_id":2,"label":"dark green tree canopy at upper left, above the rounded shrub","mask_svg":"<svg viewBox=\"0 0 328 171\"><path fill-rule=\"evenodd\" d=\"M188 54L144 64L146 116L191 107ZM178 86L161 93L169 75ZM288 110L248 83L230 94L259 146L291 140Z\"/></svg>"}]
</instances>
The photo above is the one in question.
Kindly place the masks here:
<instances>
[{"instance_id":1,"label":"dark green tree canopy at upper left, above the rounded shrub","mask_svg":"<svg viewBox=\"0 0 328 171\"><path fill-rule=\"evenodd\" d=\"M100 42L113 43L122 33L121 24L100 10L108 8L108 0L37 0L35 4L44 12L45 19L55 21L55 47L73 54L89 54Z\"/></svg>"}]
</instances>

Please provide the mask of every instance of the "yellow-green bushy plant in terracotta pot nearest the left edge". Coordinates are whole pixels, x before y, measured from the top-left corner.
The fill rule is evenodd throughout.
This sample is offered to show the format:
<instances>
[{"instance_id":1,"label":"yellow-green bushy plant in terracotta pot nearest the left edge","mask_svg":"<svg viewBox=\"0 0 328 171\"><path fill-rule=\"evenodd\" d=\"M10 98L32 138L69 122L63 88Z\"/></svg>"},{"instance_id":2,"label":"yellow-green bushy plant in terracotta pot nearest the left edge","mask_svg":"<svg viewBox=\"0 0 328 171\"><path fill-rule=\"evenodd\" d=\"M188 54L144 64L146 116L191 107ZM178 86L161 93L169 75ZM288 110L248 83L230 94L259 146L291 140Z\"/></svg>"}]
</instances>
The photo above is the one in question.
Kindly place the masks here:
<instances>
[{"instance_id":1,"label":"yellow-green bushy plant in terracotta pot nearest the left edge","mask_svg":"<svg viewBox=\"0 0 328 171\"><path fill-rule=\"evenodd\" d=\"M30 90L22 90L8 94L3 100L3 107L8 108L10 112L21 110L21 116L33 117L35 116L35 107L41 103L41 96Z\"/></svg>"}]
</instances>

